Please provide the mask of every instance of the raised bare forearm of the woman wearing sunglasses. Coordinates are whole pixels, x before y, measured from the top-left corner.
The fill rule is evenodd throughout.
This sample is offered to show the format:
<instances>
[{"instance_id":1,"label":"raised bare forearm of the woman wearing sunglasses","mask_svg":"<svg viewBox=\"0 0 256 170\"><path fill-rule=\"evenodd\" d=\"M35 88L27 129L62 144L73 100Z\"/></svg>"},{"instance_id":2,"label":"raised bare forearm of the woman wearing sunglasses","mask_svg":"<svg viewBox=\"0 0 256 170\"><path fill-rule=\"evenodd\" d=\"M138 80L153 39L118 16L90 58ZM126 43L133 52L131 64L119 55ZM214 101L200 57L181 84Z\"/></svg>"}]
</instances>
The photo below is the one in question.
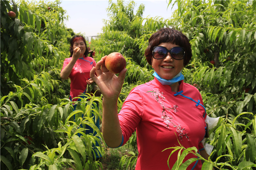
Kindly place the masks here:
<instances>
[{"instance_id":1,"label":"raised bare forearm of the woman wearing sunglasses","mask_svg":"<svg viewBox=\"0 0 256 170\"><path fill-rule=\"evenodd\" d=\"M102 134L104 141L111 148L118 147L122 142L122 130L117 115L116 100L102 100Z\"/></svg>"}]
</instances>

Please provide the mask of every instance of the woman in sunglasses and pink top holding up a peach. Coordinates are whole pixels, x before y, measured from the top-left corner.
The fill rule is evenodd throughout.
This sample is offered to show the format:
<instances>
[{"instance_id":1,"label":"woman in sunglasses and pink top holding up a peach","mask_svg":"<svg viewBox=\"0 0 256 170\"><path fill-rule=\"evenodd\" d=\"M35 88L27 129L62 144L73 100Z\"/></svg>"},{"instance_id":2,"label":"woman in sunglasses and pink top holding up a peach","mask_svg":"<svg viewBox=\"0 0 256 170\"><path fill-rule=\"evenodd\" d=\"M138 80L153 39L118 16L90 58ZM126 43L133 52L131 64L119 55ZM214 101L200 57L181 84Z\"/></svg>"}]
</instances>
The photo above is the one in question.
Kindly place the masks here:
<instances>
[{"instance_id":1,"label":"woman in sunglasses and pink top holding up a peach","mask_svg":"<svg viewBox=\"0 0 256 170\"><path fill-rule=\"evenodd\" d=\"M179 31L162 28L148 42L145 56L155 70L154 79L133 88L119 114L117 100L127 69L117 77L105 67L104 56L90 72L103 94L102 133L106 144L111 148L122 146L136 130L136 170L169 169L167 160L172 150L163 150L180 144L194 146L208 158L201 143L206 132L203 100L196 87L184 83L181 73L192 57L188 38ZM174 152L170 157L171 168L177 156ZM184 162L194 157L188 154ZM188 169L201 170L201 166L199 160Z\"/></svg>"}]
</instances>

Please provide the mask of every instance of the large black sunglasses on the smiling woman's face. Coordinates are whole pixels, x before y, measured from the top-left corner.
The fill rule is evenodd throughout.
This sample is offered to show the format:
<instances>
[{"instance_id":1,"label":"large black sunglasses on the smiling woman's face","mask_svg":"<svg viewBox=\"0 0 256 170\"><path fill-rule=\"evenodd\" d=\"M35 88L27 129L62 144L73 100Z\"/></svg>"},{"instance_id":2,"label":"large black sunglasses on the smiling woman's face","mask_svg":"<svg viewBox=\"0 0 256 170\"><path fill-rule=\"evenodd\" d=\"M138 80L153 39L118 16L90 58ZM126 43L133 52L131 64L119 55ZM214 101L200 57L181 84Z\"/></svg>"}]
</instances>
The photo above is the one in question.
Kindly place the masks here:
<instances>
[{"instance_id":1,"label":"large black sunglasses on the smiling woman's face","mask_svg":"<svg viewBox=\"0 0 256 170\"><path fill-rule=\"evenodd\" d=\"M155 59L162 59L168 52L175 60L182 60L185 57L185 50L183 47L172 47L168 50L163 46L156 46L153 48L152 54Z\"/></svg>"}]
</instances>

